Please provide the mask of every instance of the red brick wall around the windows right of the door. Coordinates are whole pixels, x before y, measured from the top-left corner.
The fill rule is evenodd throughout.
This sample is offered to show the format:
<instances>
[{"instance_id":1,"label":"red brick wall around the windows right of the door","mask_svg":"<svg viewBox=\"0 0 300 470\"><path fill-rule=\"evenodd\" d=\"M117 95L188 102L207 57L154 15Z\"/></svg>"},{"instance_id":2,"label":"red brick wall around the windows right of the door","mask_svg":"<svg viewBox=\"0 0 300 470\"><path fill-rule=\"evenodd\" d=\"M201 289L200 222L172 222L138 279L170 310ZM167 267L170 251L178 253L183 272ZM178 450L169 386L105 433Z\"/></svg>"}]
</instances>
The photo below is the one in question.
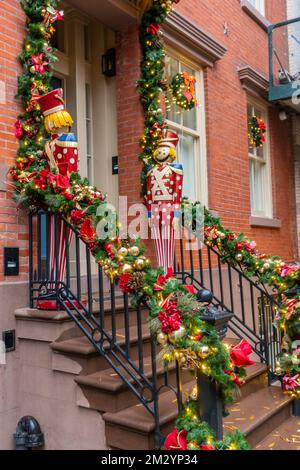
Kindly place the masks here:
<instances>
[{"instance_id":1,"label":"red brick wall around the windows right of the door","mask_svg":"<svg viewBox=\"0 0 300 470\"><path fill-rule=\"evenodd\" d=\"M268 77L267 33L241 9L239 0L181 0L176 9L227 48L224 58L213 69L205 71L209 207L219 213L225 225L256 239L262 251L294 259L291 124L279 121L278 110L272 107L269 108L268 132L273 213L274 217L281 219L282 228L251 228L249 222L247 95L237 69L250 65ZM286 16L285 0L266 0L266 10L271 22L283 20ZM223 31L225 22L230 29L228 36ZM140 165L136 155L142 130L135 91L140 60L135 33L119 35L118 41L120 193L127 194L132 202L139 200ZM286 45L282 39L278 35L275 41L280 56L285 58Z\"/></svg>"}]
</instances>

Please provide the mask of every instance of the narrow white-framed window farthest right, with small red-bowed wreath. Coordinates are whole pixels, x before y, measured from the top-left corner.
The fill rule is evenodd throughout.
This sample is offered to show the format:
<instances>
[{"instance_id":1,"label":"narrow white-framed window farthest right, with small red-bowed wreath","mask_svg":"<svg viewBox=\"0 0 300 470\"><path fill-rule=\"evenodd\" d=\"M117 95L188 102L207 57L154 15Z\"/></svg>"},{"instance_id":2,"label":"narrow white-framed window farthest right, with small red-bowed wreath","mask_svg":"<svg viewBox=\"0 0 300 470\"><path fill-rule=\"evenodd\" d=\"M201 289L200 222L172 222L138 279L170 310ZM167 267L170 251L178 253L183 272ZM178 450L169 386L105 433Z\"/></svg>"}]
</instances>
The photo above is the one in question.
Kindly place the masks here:
<instances>
[{"instance_id":1,"label":"narrow white-framed window farthest right, with small red-bowed wreath","mask_svg":"<svg viewBox=\"0 0 300 470\"><path fill-rule=\"evenodd\" d=\"M268 128L267 109L249 102L248 123L253 116L263 119ZM267 133L265 136L266 142L262 147L251 147L249 143L251 214L271 218L272 185Z\"/></svg>"}]
</instances>

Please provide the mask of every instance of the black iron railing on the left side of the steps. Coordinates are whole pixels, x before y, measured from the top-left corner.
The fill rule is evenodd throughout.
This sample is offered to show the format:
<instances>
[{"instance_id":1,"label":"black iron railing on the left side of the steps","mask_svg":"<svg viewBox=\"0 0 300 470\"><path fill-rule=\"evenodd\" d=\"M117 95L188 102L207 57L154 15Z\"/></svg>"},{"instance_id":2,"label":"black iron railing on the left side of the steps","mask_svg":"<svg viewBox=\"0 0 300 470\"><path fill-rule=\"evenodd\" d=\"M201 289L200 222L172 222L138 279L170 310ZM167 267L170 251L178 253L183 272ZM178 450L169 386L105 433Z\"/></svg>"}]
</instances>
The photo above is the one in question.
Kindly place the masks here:
<instances>
[{"instance_id":1,"label":"black iron railing on the left side of the steps","mask_svg":"<svg viewBox=\"0 0 300 470\"><path fill-rule=\"evenodd\" d=\"M164 391L172 391L178 411L181 410L179 364L176 362L164 370L157 363L158 347L147 326L147 306L131 308L129 296L107 280L102 268L92 262L91 254L78 233L66 222L66 270L64 279L59 279L59 220L58 215L44 211L29 217L30 305L36 308L41 302L54 301L57 309L68 312L108 367L118 374L153 416L155 446L160 448L163 438L159 396ZM73 237L69 243L70 232ZM57 254L54 267L51 249Z\"/></svg>"}]
</instances>

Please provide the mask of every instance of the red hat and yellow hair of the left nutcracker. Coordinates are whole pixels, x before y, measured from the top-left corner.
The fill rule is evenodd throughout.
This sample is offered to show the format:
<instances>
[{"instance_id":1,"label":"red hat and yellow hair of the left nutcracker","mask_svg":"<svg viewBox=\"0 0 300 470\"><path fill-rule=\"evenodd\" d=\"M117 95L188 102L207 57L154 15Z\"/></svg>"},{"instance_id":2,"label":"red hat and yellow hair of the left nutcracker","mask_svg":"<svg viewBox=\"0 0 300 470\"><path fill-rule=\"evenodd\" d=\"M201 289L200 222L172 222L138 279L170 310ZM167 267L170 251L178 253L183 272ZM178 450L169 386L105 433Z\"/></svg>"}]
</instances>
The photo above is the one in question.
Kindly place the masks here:
<instances>
[{"instance_id":1,"label":"red hat and yellow hair of the left nutcracker","mask_svg":"<svg viewBox=\"0 0 300 470\"><path fill-rule=\"evenodd\" d=\"M64 127L70 128L73 119L65 109L62 88L52 90L37 99L45 117L45 128L51 134L56 134Z\"/></svg>"}]
</instances>

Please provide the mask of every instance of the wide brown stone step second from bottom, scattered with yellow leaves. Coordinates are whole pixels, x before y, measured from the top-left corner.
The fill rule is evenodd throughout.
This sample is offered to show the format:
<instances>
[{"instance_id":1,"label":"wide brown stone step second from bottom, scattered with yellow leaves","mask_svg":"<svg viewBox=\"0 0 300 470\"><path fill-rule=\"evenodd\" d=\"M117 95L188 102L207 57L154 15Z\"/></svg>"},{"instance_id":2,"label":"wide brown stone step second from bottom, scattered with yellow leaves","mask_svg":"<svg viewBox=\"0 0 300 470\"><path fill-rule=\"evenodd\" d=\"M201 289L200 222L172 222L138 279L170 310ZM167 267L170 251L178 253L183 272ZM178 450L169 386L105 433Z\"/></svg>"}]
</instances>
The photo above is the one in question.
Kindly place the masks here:
<instances>
[{"instance_id":1,"label":"wide brown stone step second from bottom, scattered with yellow leaves","mask_svg":"<svg viewBox=\"0 0 300 470\"><path fill-rule=\"evenodd\" d=\"M191 389L194 382L184 388ZM291 416L292 398L283 395L278 387L263 388L248 395L229 408L224 420L224 431L236 428L245 433L253 448ZM177 417L176 400L172 392L163 393L159 400L161 432L166 436ZM154 420L142 406L135 405L118 413L105 413L107 444L120 450L148 450L154 448Z\"/></svg>"}]
</instances>

